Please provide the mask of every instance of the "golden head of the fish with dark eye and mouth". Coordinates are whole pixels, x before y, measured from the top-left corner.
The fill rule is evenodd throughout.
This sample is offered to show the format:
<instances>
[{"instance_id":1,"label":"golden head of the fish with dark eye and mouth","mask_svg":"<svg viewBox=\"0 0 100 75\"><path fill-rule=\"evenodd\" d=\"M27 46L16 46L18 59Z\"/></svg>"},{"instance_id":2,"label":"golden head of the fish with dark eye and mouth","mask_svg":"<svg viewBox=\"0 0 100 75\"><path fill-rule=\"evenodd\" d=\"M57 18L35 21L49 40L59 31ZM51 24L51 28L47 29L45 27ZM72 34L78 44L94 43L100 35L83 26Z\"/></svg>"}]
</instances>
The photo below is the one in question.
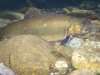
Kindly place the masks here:
<instances>
[{"instance_id":1,"label":"golden head of the fish with dark eye and mouth","mask_svg":"<svg viewBox=\"0 0 100 75\"><path fill-rule=\"evenodd\" d=\"M76 19L71 22L71 24L67 27L66 33L67 35L82 35L87 34L92 30L91 21L86 19Z\"/></svg>"}]
</instances>

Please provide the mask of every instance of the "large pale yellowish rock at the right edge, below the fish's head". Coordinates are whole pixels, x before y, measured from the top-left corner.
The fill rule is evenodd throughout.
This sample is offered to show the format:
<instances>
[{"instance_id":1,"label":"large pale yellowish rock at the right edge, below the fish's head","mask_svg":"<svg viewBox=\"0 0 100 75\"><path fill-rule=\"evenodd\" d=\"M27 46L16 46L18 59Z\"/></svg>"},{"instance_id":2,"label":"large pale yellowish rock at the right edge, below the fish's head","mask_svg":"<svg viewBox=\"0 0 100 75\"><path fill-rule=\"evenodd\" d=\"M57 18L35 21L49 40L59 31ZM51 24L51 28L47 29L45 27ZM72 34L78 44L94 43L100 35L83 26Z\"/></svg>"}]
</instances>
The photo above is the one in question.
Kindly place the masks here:
<instances>
[{"instance_id":1,"label":"large pale yellowish rock at the right edge, below the fish's head","mask_svg":"<svg viewBox=\"0 0 100 75\"><path fill-rule=\"evenodd\" d=\"M72 55L72 65L76 69L89 69L100 74L100 42L86 41L75 49Z\"/></svg>"}]
</instances>

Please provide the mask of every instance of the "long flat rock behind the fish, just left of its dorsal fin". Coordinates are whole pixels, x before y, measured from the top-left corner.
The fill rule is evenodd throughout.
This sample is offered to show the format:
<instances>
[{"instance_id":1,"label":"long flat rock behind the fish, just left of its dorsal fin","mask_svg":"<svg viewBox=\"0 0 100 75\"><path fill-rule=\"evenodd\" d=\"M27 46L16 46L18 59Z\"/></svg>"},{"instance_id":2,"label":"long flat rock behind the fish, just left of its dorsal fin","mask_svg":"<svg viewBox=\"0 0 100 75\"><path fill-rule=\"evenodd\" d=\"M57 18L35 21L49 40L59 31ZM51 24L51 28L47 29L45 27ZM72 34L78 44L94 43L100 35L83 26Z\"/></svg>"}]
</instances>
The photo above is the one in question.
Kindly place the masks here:
<instances>
[{"instance_id":1,"label":"long flat rock behind the fish, just left of its dorsal fin","mask_svg":"<svg viewBox=\"0 0 100 75\"><path fill-rule=\"evenodd\" d=\"M15 12L4 12L0 14L0 18L10 19L10 20L22 20L24 19L24 14L15 13Z\"/></svg>"}]
</instances>

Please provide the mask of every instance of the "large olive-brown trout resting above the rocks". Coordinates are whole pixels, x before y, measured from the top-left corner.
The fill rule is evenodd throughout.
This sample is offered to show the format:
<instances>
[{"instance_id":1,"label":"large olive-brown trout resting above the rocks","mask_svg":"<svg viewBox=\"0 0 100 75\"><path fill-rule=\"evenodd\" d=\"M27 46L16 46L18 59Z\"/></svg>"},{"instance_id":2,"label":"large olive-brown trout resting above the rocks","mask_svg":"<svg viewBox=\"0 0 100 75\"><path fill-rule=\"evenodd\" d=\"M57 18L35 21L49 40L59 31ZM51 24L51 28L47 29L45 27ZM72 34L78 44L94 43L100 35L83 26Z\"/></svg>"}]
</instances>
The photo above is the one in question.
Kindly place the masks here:
<instances>
[{"instance_id":1,"label":"large olive-brown trout resting above the rocks","mask_svg":"<svg viewBox=\"0 0 100 75\"><path fill-rule=\"evenodd\" d=\"M0 29L0 38L4 40L17 35L36 35L47 41L59 41L67 35L81 34L90 24L87 19L63 14L43 14L37 8L30 7L25 19Z\"/></svg>"}]
</instances>

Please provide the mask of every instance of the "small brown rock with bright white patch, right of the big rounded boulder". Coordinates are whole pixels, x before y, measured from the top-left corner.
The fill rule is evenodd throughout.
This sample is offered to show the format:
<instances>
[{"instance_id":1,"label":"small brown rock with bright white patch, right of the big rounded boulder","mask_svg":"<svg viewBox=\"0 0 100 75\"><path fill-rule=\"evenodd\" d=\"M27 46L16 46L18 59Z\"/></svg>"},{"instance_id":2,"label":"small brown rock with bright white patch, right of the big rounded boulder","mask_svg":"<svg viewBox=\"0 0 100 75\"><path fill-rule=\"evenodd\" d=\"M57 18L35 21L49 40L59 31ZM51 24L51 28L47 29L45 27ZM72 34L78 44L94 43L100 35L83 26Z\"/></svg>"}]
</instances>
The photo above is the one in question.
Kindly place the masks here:
<instances>
[{"instance_id":1,"label":"small brown rock with bright white patch, right of the big rounded boulder","mask_svg":"<svg viewBox=\"0 0 100 75\"><path fill-rule=\"evenodd\" d=\"M71 61L61 57L58 58L50 68L51 70L49 75L66 75L71 69Z\"/></svg>"}]
</instances>

